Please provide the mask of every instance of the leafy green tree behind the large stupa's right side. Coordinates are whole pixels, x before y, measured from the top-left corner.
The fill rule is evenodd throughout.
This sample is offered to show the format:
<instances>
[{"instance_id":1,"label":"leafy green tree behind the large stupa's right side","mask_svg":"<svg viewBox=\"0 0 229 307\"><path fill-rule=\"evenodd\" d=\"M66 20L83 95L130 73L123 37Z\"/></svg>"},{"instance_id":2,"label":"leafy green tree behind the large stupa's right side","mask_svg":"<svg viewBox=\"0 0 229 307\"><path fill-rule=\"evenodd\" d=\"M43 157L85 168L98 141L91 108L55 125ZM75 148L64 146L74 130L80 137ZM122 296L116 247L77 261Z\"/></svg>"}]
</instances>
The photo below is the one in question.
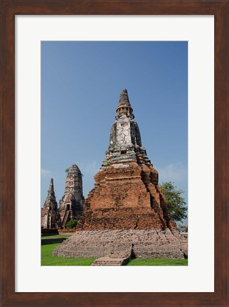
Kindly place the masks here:
<instances>
[{"instance_id":1,"label":"leafy green tree behind the large stupa's right side","mask_svg":"<svg viewBox=\"0 0 229 307\"><path fill-rule=\"evenodd\" d=\"M177 186L172 182L165 182L160 185L162 192L166 197L167 210L172 220L181 222L187 215L186 201L181 196L183 190L177 190Z\"/></svg>"}]
</instances>

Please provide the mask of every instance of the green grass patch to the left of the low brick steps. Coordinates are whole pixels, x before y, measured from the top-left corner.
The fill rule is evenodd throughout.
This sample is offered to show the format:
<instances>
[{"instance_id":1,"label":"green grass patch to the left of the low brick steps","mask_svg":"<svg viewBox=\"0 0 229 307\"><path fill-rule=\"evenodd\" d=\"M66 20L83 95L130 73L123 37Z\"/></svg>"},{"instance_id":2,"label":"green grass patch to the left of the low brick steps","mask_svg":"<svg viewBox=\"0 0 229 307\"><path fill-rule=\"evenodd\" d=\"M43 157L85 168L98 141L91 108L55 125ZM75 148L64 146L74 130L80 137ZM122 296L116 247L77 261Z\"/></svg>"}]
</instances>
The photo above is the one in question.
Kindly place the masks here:
<instances>
[{"instance_id":1,"label":"green grass patch to the left of the low brick steps","mask_svg":"<svg viewBox=\"0 0 229 307\"><path fill-rule=\"evenodd\" d=\"M60 243L41 245L42 266L90 266L96 258L62 258L52 256L52 250Z\"/></svg>"}]
</instances>

